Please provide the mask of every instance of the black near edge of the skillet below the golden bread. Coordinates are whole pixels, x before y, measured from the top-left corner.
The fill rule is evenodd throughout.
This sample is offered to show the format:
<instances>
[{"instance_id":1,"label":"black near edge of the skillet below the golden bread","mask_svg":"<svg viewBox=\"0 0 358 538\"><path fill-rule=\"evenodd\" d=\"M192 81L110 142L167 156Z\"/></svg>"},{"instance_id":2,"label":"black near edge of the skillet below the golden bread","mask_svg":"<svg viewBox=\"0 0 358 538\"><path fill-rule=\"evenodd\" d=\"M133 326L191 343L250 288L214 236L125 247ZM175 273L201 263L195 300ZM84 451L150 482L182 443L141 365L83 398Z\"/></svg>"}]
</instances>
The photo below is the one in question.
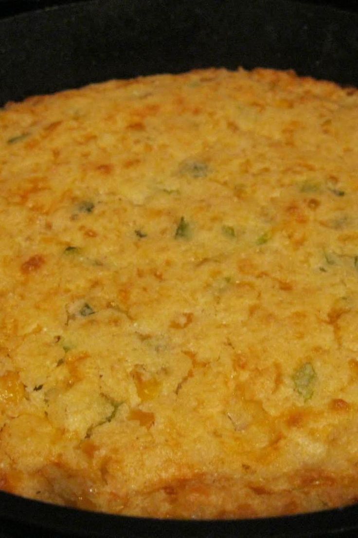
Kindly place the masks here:
<instances>
[{"instance_id":1,"label":"black near edge of the skillet below the golden bread","mask_svg":"<svg viewBox=\"0 0 358 538\"><path fill-rule=\"evenodd\" d=\"M3 511L7 511L6 515L2 515ZM238 532L245 533L245 538L304 538L332 533L339 536L338 533L356 530L358 504L268 518L185 520L93 512L0 491L0 522L2 520L25 523L35 530L54 530L84 538L164 538L168 535L193 538L193 532L195 538L233 538Z\"/></svg>"}]
</instances>

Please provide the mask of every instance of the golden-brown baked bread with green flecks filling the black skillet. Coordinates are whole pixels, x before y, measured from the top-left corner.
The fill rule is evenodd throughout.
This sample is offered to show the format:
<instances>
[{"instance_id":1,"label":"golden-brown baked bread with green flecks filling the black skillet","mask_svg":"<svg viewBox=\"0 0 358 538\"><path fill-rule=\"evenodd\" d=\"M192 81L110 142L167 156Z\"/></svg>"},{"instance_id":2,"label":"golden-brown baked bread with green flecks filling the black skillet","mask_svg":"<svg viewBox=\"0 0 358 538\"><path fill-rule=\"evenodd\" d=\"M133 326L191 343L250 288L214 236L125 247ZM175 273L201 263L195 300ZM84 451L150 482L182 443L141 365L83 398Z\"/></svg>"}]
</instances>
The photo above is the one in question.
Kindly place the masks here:
<instances>
[{"instance_id":1,"label":"golden-brown baked bread with green flecks filling the black skillet","mask_svg":"<svg viewBox=\"0 0 358 538\"><path fill-rule=\"evenodd\" d=\"M110 81L0 111L0 487L160 518L358 499L358 93Z\"/></svg>"}]
</instances>

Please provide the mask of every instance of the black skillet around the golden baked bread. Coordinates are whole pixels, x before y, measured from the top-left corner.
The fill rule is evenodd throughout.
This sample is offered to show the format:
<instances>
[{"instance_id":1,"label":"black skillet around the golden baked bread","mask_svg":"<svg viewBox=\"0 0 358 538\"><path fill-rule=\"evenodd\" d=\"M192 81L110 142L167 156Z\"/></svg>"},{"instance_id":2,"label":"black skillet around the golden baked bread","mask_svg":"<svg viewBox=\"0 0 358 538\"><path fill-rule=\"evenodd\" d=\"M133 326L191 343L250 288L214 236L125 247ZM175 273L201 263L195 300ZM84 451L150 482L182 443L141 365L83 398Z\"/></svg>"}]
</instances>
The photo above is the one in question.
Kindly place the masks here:
<instances>
[{"instance_id":1,"label":"black skillet around the golden baked bread","mask_svg":"<svg viewBox=\"0 0 358 538\"><path fill-rule=\"evenodd\" d=\"M358 86L358 15L291 0L87 0L0 21L0 105L114 77L238 65L294 68ZM162 521L0 492L0 538L353 537L357 532L358 505L283 518Z\"/></svg>"}]
</instances>

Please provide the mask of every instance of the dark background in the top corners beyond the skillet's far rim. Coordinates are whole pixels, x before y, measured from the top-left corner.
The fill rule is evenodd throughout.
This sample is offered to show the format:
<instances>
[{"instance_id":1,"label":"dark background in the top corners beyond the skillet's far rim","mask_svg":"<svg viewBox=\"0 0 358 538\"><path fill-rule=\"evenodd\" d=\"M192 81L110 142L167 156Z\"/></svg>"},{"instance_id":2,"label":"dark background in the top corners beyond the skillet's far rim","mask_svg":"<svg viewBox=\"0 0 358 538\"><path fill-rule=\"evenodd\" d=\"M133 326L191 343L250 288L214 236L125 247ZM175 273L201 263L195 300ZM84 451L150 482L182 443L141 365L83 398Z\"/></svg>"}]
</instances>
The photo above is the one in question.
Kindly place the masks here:
<instances>
[{"instance_id":1,"label":"dark background in the top corners beyond the skillet's far rim","mask_svg":"<svg viewBox=\"0 0 358 538\"><path fill-rule=\"evenodd\" d=\"M44 8L47 6L70 4L75 0L0 0L0 17L8 17L21 13L23 11L30 11L33 9ZM120 0L118 0L120 2ZM146 0L143 0L145 2ZM172 0L168 0L171 2ZM194 0L193 0L194 1ZM223 3L225 0L222 0ZM238 0L239 1L239 0ZM245 0L250 2L250 0ZM300 0L302 3L317 4L317 5L331 5L339 9L358 12L358 0ZM180 2L180 0L176 0Z\"/></svg>"}]
</instances>

